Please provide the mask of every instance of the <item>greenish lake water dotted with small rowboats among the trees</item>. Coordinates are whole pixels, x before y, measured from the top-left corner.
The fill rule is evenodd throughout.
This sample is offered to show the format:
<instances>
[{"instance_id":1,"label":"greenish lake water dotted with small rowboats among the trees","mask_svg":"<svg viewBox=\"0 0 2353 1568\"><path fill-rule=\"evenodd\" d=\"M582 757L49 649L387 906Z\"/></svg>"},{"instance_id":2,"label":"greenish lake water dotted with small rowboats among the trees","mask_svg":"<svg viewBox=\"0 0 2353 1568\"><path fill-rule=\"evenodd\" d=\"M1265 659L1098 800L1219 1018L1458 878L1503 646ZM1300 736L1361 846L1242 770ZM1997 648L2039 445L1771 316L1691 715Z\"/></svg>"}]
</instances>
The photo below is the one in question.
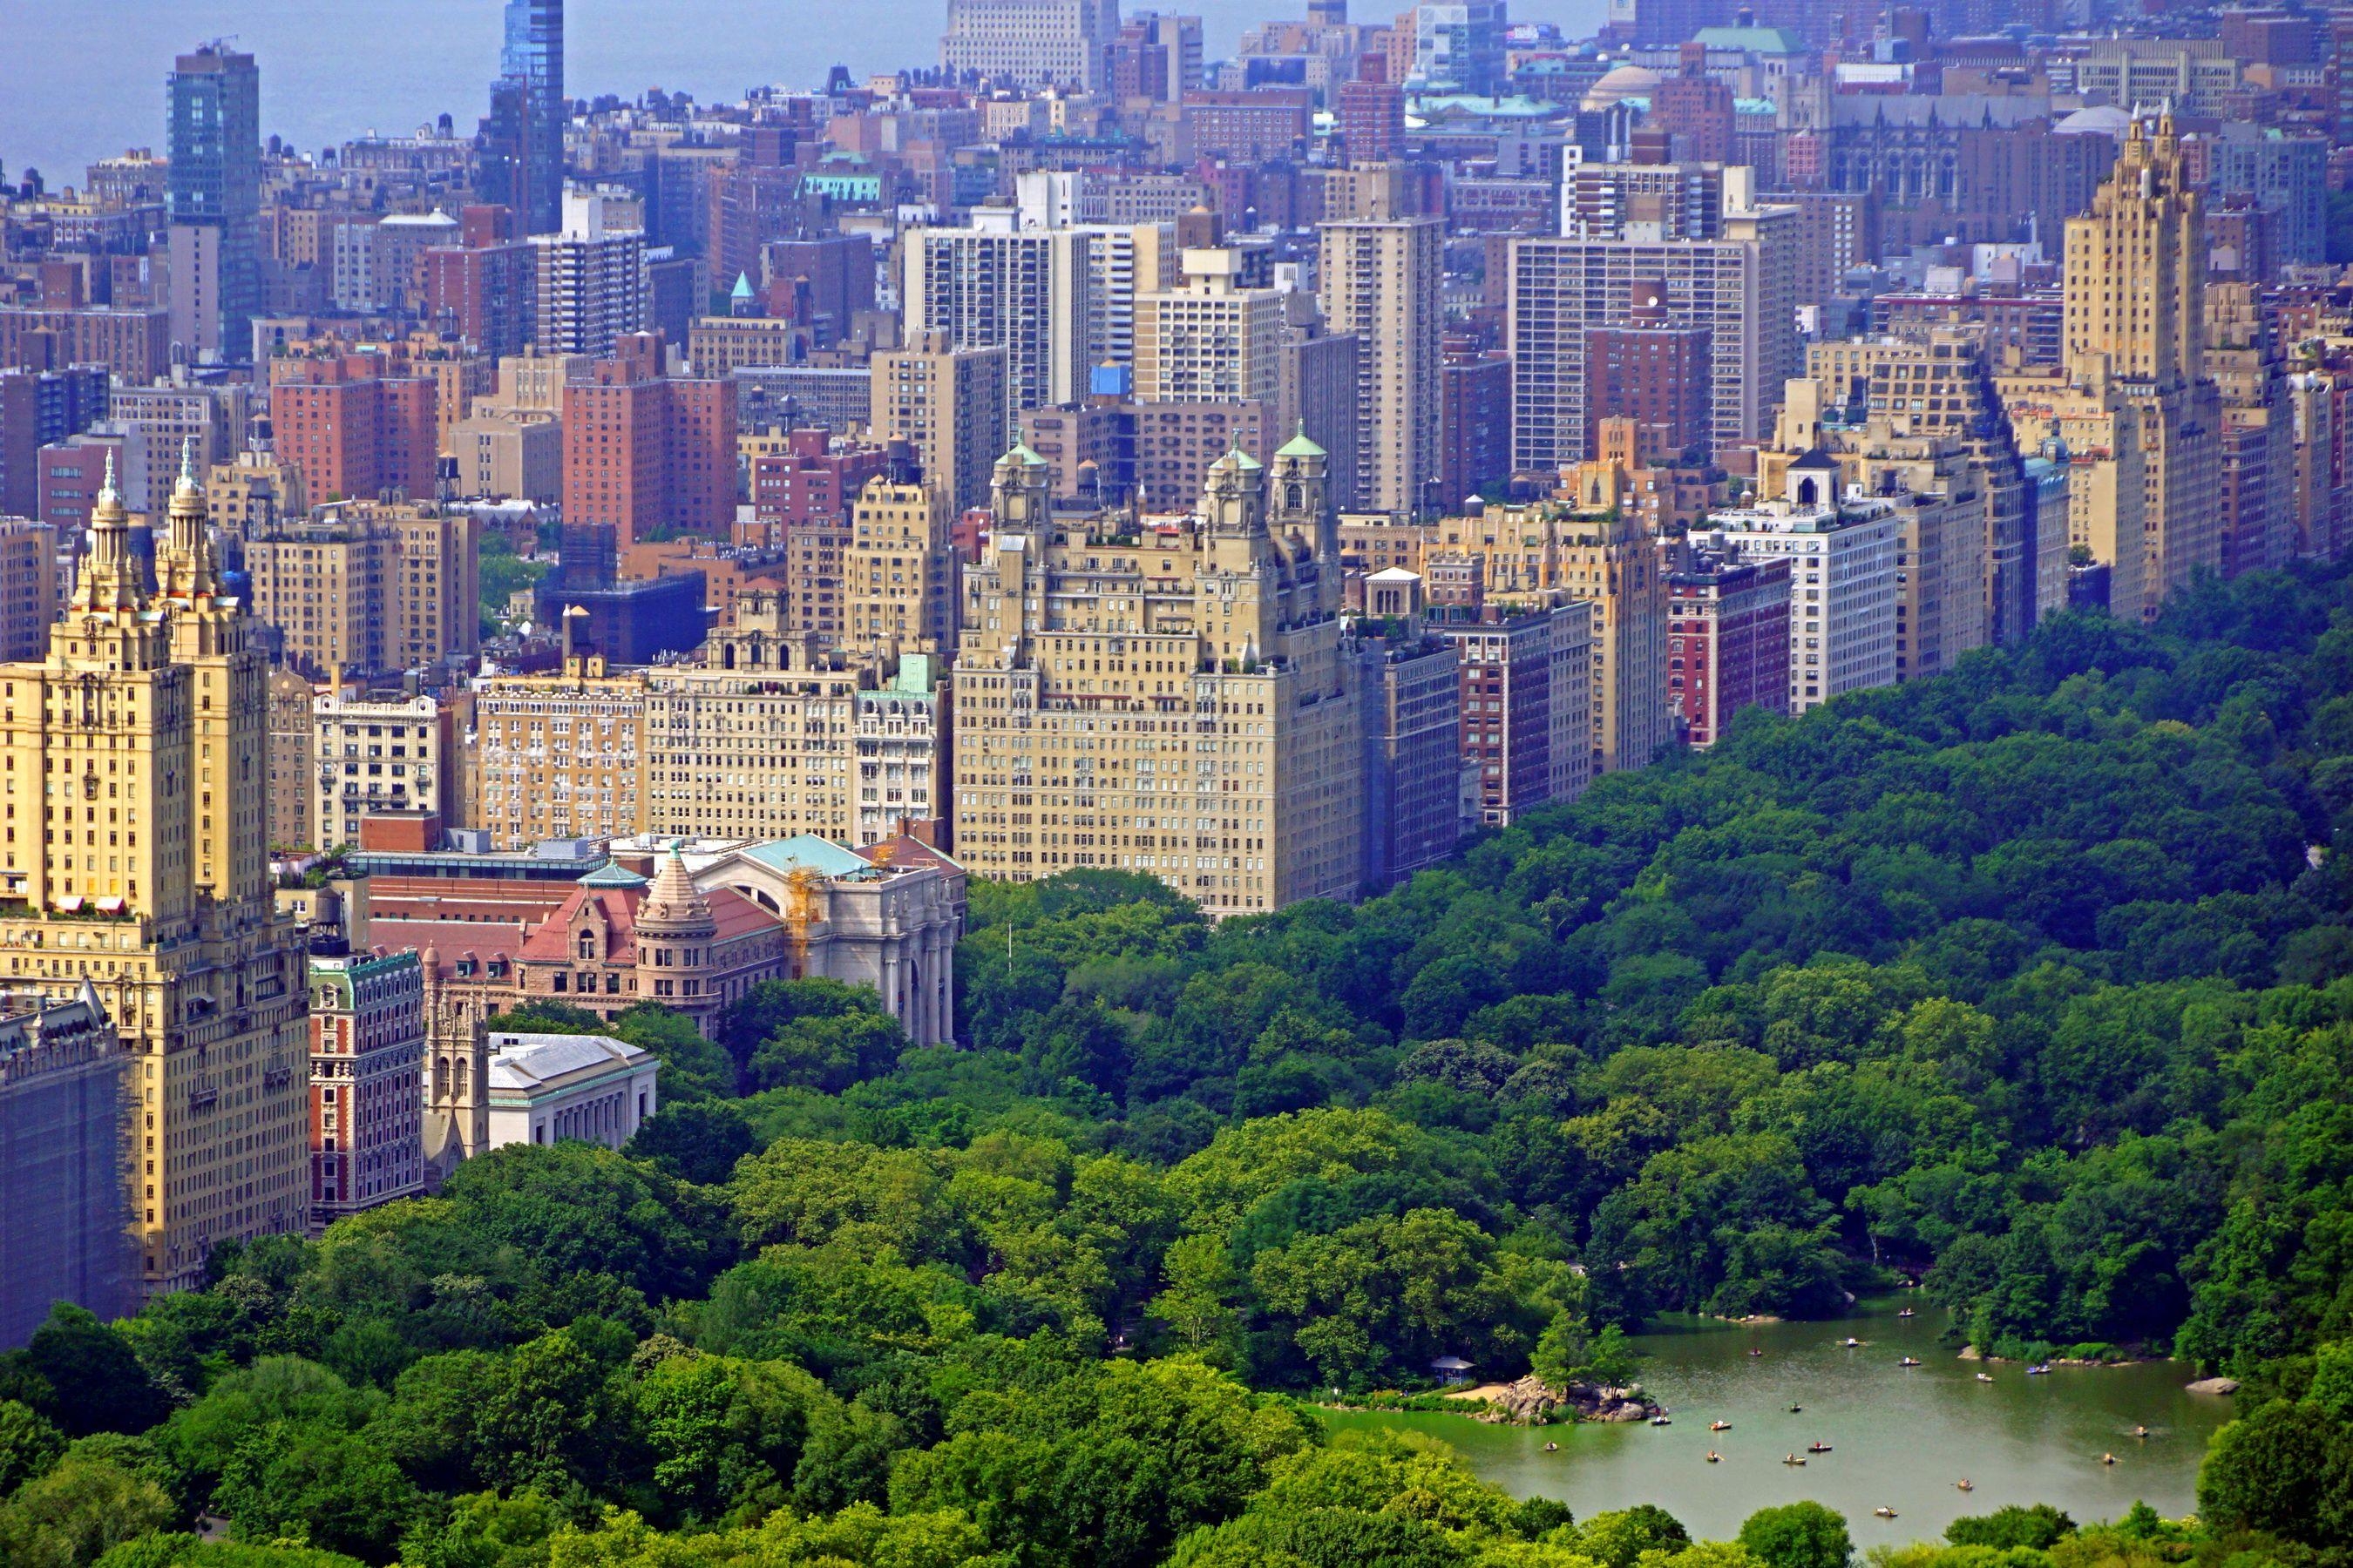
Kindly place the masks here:
<instances>
[{"instance_id":1,"label":"greenish lake water dotted with small rowboats among the trees","mask_svg":"<svg viewBox=\"0 0 2353 1568\"><path fill-rule=\"evenodd\" d=\"M2172 1361L2059 1366L2028 1378L2019 1363L1960 1361L1937 1342L1944 1314L1871 1302L1833 1324L1725 1324L1645 1333L1640 1380L1671 1427L1489 1427L1459 1415L1329 1415L1334 1427L1412 1427L1457 1446L1471 1467L1579 1516L1657 1502L1694 1537L1729 1537L1767 1505L1814 1497L1847 1516L1859 1547L1934 1540L1962 1514L2052 1502L2078 1523L2115 1519L2146 1500L2165 1516L2195 1509L2198 1460L2231 1420L2231 1401L2188 1394L2195 1373ZM1861 1349L1838 1340L1854 1335ZM1751 1356L1762 1349L1762 1356ZM1922 1366L1897 1366L1901 1356ZM1993 1375L1991 1385L1977 1373ZM1805 1406L1791 1415L1788 1406ZM1727 1420L1729 1432L1708 1432ZM2134 1427L2148 1427L2134 1439ZM1807 1443L1831 1453L1807 1455ZM1560 1443L1560 1453L1544 1453ZM1708 1465L1708 1450L1722 1455ZM1786 1467L1798 1453L1807 1465ZM2101 1465L2113 1453L2115 1465ZM1955 1481L1969 1479L1962 1493ZM1871 1509L1892 1507L1897 1519Z\"/></svg>"}]
</instances>

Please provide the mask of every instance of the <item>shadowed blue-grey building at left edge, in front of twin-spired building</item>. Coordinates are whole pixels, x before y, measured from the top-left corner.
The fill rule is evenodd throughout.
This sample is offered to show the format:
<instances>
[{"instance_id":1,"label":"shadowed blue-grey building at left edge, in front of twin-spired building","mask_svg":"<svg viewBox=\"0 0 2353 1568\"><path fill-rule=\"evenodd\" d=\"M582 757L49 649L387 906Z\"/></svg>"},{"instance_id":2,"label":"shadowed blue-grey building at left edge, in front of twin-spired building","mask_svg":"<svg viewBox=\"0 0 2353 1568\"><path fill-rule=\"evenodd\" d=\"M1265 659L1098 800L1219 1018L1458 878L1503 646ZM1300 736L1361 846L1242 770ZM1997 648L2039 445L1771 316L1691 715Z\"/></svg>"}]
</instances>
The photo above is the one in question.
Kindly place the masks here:
<instances>
[{"instance_id":1,"label":"shadowed blue-grey building at left edge, in front of twin-spired building","mask_svg":"<svg viewBox=\"0 0 2353 1568\"><path fill-rule=\"evenodd\" d=\"M71 1001L12 994L0 1013L0 1347L31 1340L54 1302L108 1321L139 1307L129 1065L87 980Z\"/></svg>"}]
</instances>

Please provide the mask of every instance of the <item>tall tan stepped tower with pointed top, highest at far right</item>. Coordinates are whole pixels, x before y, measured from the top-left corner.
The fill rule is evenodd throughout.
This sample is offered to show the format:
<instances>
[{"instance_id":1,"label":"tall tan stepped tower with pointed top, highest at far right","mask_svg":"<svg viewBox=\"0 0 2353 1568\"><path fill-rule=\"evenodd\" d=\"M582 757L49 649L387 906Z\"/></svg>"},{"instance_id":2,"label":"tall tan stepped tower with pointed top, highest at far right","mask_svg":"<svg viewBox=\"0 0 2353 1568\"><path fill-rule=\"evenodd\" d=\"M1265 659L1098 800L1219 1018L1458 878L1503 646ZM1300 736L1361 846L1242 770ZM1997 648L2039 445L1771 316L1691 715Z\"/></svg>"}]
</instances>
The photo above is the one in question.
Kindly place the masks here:
<instances>
[{"instance_id":1,"label":"tall tan stepped tower with pointed top, highest at far right","mask_svg":"<svg viewBox=\"0 0 2353 1568\"><path fill-rule=\"evenodd\" d=\"M2221 569L2221 395L2205 371L2205 195L2174 120L2162 115L2155 132L2134 120L2092 212L2066 226L2068 381L2113 383L2141 421L2146 559L2139 602L2111 599L2120 616L2155 616L2198 571Z\"/></svg>"}]
</instances>

